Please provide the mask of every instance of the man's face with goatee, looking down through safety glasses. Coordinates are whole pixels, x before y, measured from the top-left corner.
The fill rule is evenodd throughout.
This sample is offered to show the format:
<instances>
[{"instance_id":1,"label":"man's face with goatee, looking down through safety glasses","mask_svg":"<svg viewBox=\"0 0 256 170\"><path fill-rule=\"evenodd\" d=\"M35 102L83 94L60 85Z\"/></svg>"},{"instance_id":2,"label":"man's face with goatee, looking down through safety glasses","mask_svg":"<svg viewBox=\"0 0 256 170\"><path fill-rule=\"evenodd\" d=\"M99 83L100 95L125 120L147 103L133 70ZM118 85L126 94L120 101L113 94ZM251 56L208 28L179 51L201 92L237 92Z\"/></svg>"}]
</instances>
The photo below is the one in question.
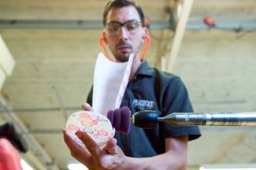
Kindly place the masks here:
<instances>
[{"instance_id":1,"label":"man's face with goatee, looking down through safety glasses","mask_svg":"<svg viewBox=\"0 0 256 170\"><path fill-rule=\"evenodd\" d=\"M109 23L116 23L116 26L119 26L119 31L116 33L109 32L107 26L112 26ZM125 26L122 26L123 23L125 23ZM106 24L103 35L106 37L109 49L116 57L116 60L126 62L131 53L138 58L140 45L144 42L143 37L145 36L146 29L141 26L137 9L133 6L112 8L109 11L109 15L107 15ZM135 31L131 31L133 26L137 26ZM112 28L112 30L116 30L116 27Z\"/></svg>"}]
</instances>

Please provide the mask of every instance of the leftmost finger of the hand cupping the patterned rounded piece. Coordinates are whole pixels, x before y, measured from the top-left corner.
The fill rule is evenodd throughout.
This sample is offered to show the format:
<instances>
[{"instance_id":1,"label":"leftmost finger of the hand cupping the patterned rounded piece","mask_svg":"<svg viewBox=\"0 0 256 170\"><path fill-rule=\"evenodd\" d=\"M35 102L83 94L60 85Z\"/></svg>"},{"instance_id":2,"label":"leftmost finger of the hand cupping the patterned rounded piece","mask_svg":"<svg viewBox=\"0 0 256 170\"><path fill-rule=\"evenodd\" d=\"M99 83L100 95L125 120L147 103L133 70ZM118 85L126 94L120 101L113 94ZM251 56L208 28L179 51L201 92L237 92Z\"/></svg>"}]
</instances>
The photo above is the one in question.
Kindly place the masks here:
<instances>
[{"instance_id":1,"label":"leftmost finger of the hand cupping the patterned rounded piece","mask_svg":"<svg viewBox=\"0 0 256 170\"><path fill-rule=\"evenodd\" d=\"M64 141L69 150L71 151L71 155L74 158L78 159L78 161L80 162L88 162L90 155L88 155L77 143L75 143L65 130L63 130L63 134Z\"/></svg>"}]
</instances>

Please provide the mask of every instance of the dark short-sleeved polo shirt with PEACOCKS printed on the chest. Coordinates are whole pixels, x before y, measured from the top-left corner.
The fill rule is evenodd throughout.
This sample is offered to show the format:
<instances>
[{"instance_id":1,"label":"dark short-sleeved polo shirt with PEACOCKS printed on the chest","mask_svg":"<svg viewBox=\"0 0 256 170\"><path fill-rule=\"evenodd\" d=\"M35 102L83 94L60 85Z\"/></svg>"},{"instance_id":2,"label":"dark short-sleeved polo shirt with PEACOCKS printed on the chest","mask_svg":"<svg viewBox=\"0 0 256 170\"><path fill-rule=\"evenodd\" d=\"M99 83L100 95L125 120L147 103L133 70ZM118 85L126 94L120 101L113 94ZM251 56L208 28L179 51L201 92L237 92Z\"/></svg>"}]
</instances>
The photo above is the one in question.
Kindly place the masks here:
<instances>
[{"instance_id":1,"label":"dark short-sleeved polo shirt with PEACOCKS printed on the chest","mask_svg":"<svg viewBox=\"0 0 256 170\"><path fill-rule=\"evenodd\" d=\"M87 102L92 104L92 90ZM174 112L193 111L182 80L174 74L151 68L145 60L128 83L121 106L130 107L132 114L138 110L156 110L159 117ZM189 140L199 138L199 128L161 122L157 128L143 129L131 124L129 134L116 132L115 138L126 156L143 158L164 153L164 138L184 135L189 135Z\"/></svg>"}]
</instances>

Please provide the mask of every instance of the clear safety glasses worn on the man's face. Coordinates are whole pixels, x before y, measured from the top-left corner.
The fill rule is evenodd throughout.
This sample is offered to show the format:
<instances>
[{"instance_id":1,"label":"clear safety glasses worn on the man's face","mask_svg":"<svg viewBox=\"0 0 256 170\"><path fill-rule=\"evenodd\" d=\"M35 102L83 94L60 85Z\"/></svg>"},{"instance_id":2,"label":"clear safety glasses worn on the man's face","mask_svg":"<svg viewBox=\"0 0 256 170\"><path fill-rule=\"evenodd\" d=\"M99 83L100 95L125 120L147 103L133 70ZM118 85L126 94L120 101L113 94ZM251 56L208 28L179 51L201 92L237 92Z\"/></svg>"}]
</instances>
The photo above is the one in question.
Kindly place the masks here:
<instances>
[{"instance_id":1,"label":"clear safety glasses worn on the man's face","mask_svg":"<svg viewBox=\"0 0 256 170\"><path fill-rule=\"evenodd\" d=\"M119 33L122 26L124 26L126 31L130 34L136 34L141 28L141 22L136 19L129 20L124 23L112 21L106 24L106 31L111 35L116 35Z\"/></svg>"}]
</instances>

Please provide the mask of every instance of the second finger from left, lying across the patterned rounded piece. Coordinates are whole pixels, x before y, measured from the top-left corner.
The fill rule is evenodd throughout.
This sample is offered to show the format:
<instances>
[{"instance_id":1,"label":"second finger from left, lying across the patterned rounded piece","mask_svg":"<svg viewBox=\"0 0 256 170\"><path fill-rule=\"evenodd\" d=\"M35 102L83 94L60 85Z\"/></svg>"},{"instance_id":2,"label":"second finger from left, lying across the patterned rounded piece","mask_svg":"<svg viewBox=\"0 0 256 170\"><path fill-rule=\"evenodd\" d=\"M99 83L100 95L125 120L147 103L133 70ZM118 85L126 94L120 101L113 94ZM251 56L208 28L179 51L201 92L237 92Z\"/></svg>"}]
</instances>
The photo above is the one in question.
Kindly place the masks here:
<instances>
[{"instance_id":1,"label":"second finger from left, lying across the patterned rounded piece","mask_svg":"<svg viewBox=\"0 0 256 170\"><path fill-rule=\"evenodd\" d=\"M94 158L98 158L100 155L101 149L97 143L86 133L82 131L77 131L75 133L78 138L85 144L85 147L88 148L88 151L92 154Z\"/></svg>"}]
</instances>

